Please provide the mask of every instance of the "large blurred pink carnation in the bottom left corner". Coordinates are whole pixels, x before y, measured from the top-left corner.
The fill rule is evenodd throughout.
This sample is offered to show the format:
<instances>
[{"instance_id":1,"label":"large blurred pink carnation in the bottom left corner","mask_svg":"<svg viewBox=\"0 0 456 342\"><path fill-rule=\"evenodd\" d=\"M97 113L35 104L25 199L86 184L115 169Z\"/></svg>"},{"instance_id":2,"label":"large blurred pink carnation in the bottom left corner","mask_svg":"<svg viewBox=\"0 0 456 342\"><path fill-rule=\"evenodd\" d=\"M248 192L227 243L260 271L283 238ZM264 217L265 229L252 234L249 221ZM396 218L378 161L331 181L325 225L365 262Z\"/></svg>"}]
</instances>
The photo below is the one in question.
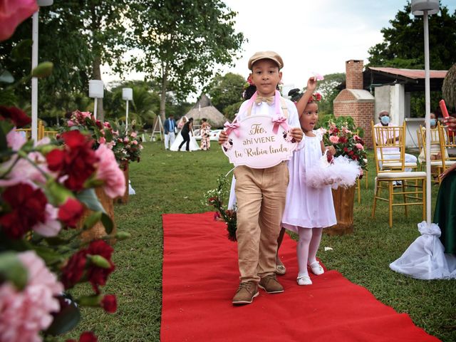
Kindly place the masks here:
<instances>
[{"instance_id":1,"label":"large blurred pink carnation in the bottom left corner","mask_svg":"<svg viewBox=\"0 0 456 342\"><path fill-rule=\"evenodd\" d=\"M61 294L63 285L35 252L18 256L28 271L28 281L22 291L9 282L0 286L0 341L39 342L39 331L52 323L51 312L60 309L54 296Z\"/></svg>"}]
</instances>

